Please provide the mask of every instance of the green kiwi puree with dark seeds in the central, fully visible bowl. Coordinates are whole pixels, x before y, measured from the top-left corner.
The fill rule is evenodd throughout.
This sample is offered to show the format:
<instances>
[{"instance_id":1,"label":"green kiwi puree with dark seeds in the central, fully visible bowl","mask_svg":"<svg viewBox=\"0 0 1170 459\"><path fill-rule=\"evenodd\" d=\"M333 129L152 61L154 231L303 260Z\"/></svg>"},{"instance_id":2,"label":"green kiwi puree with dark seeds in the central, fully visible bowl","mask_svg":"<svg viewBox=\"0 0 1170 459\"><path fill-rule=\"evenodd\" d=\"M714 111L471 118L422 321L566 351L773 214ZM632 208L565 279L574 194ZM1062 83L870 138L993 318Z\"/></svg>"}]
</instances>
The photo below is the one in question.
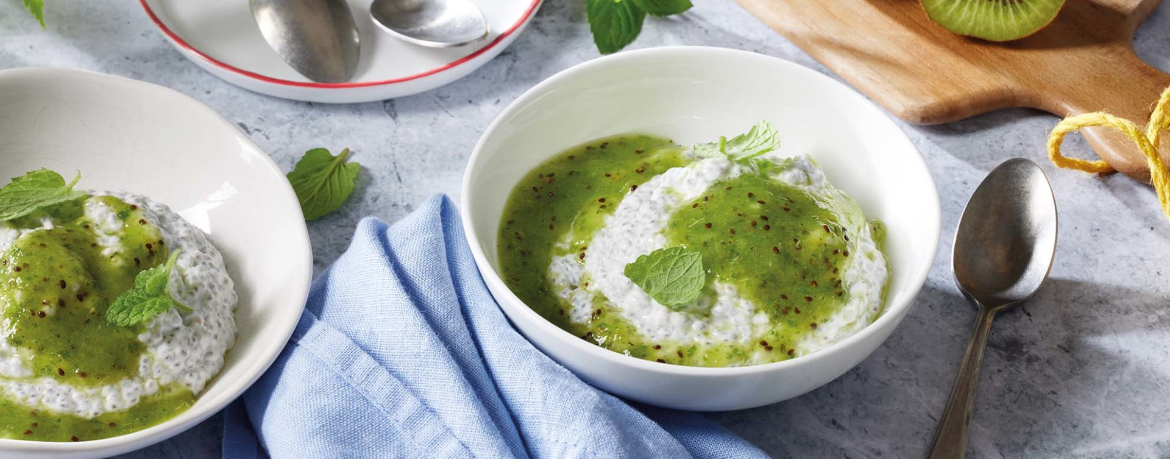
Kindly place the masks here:
<instances>
[{"instance_id":1,"label":"green kiwi puree with dark seeds in the central, fully visible bowl","mask_svg":"<svg viewBox=\"0 0 1170 459\"><path fill-rule=\"evenodd\" d=\"M665 138L627 135L570 149L537 166L516 185L504 210L497 247L504 282L562 329L629 356L700 366L794 358L793 344L849 299L840 279L851 256L842 222L853 218L845 212L863 215L852 200L827 201L766 177L760 170L776 164L764 160L756 162L758 173L717 181L683 204L663 235L666 247L702 255L707 287L696 304L710 308L715 281L729 283L768 315L770 331L750 344L648 342L600 293L587 323L569 320L572 306L549 280L553 256L589 256L590 239L605 217L638 185L691 163L683 151ZM560 244L565 240L567 247Z\"/></svg>"}]
</instances>

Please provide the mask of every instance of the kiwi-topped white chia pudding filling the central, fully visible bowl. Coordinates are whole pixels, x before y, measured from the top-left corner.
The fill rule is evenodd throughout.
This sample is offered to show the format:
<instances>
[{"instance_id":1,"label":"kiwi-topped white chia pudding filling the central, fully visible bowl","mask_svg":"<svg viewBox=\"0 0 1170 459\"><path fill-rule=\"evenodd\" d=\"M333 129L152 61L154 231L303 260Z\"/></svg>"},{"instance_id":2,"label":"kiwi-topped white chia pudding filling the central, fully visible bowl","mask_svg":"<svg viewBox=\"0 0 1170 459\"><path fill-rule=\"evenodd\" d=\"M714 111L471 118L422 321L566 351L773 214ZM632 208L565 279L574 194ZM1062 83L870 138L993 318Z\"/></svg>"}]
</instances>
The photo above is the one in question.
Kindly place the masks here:
<instances>
[{"instance_id":1,"label":"kiwi-topped white chia pudding filling the central, fully visible bowl","mask_svg":"<svg viewBox=\"0 0 1170 459\"><path fill-rule=\"evenodd\" d=\"M562 329L660 363L785 361L881 314L882 227L807 156L696 155L626 135L570 149L512 190L500 227L504 282ZM667 247L701 254L694 301L663 306L627 266Z\"/></svg>"}]
</instances>

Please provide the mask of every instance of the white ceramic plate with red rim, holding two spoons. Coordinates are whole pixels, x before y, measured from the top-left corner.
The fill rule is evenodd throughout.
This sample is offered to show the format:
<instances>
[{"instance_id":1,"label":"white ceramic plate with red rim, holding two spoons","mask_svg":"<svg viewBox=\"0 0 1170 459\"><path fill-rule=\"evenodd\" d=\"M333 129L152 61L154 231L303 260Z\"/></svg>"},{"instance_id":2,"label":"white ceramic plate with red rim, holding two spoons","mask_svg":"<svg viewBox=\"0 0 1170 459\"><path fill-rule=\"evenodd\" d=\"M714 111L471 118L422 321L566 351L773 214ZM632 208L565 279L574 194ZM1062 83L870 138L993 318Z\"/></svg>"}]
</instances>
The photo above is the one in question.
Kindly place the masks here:
<instances>
[{"instance_id":1,"label":"white ceramic plate with red rim, holding two spoons","mask_svg":"<svg viewBox=\"0 0 1170 459\"><path fill-rule=\"evenodd\" d=\"M473 0L488 21L484 41L446 49L407 43L370 19L373 0L349 0L362 35L362 61L347 83L314 83L284 63L260 34L247 1L139 0L167 41L228 83L308 102L381 101L431 90L480 68L524 30L542 0Z\"/></svg>"}]
</instances>

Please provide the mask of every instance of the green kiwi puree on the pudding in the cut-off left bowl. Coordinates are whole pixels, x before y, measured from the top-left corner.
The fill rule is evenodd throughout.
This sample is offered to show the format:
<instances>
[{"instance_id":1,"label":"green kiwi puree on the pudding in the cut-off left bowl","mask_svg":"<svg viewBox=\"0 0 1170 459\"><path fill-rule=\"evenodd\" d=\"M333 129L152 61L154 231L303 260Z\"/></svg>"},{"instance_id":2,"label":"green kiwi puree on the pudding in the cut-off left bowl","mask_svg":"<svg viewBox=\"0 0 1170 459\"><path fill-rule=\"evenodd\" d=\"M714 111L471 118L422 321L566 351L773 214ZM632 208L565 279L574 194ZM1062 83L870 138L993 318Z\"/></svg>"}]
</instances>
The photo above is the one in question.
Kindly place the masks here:
<instances>
[{"instance_id":1,"label":"green kiwi puree on the pudding in the cut-off left bowl","mask_svg":"<svg viewBox=\"0 0 1170 459\"><path fill-rule=\"evenodd\" d=\"M87 200L110 206L122 222L115 233L122 249L103 253L85 218ZM138 375L145 345L139 323L117 327L105 321L105 309L133 287L135 276L167 259L158 227L137 206L113 197L92 197L53 206L7 222L28 232L0 253L0 311L7 343L19 349L23 366L33 375L60 384L92 388L117 384ZM0 397L0 436L26 440L78 441L113 437L161 423L194 402L179 385L161 388L126 410L92 419L30 409Z\"/></svg>"}]
</instances>

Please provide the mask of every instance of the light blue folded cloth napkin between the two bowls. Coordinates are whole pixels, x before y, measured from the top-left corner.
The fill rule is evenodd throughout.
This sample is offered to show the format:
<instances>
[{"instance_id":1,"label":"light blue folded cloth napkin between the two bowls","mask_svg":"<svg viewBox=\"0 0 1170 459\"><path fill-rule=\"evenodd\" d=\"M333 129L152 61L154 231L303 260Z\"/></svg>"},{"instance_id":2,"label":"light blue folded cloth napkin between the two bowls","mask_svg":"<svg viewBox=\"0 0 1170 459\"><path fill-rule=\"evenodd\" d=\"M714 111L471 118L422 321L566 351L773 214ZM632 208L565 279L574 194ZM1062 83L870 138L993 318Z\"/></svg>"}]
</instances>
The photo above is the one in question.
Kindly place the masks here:
<instances>
[{"instance_id":1,"label":"light blue folded cloth napkin between the two bowls","mask_svg":"<svg viewBox=\"0 0 1170 459\"><path fill-rule=\"evenodd\" d=\"M766 458L689 412L632 407L511 328L459 213L367 218L288 347L225 411L225 459Z\"/></svg>"}]
</instances>

